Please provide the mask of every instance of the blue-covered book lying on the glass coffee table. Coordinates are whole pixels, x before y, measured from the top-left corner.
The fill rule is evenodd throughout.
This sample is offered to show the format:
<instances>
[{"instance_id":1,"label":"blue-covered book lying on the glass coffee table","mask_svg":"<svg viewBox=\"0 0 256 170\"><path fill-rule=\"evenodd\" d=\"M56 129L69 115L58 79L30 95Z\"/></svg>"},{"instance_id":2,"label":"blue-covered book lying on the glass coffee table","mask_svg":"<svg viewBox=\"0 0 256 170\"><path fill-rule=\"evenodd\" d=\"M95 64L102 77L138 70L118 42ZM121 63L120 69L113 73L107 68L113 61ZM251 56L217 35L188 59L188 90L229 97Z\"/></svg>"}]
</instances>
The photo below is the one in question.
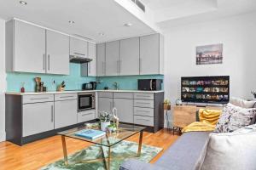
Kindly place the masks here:
<instances>
[{"instance_id":1,"label":"blue-covered book lying on the glass coffee table","mask_svg":"<svg viewBox=\"0 0 256 170\"><path fill-rule=\"evenodd\" d=\"M101 130L95 130L95 129L84 129L75 133L75 135L86 138L86 139L94 140L106 135L106 132L103 132Z\"/></svg>"}]
</instances>

